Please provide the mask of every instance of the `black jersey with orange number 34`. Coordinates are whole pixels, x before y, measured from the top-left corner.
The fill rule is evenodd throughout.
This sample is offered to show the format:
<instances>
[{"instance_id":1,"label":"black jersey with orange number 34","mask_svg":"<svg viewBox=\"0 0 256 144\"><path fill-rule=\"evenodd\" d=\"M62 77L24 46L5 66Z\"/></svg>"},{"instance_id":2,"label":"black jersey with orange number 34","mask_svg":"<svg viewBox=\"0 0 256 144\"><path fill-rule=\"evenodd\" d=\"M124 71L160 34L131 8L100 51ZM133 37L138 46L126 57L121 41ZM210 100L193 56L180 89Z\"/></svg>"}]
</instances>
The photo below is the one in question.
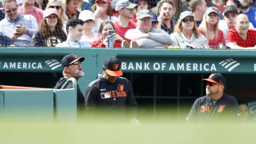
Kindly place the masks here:
<instances>
[{"instance_id":1,"label":"black jersey with orange number 34","mask_svg":"<svg viewBox=\"0 0 256 144\"><path fill-rule=\"evenodd\" d=\"M238 117L239 107L233 96L223 94L219 100L210 99L209 95L195 100L187 121L204 121L221 117Z\"/></svg>"}]
</instances>

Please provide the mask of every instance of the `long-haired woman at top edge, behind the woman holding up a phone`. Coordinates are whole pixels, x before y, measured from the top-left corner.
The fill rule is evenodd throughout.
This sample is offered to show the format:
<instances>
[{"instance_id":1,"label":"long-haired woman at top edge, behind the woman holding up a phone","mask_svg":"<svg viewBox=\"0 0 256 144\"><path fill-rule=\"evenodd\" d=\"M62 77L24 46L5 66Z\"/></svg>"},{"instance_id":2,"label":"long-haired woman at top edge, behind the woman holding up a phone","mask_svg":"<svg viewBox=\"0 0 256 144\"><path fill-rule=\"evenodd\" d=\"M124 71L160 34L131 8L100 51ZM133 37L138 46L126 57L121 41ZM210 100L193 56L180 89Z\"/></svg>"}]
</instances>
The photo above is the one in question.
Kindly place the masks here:
<instances>
[{"instance_id":1,"label":"long-haired woman at top edge, behind the woman holding up a phone","mask_svg":"<svg viewBox=\"0 0 256 144\"><path fill-rule=\"evenodd\" d=\"M104 21L111 21L114 23L117 20L117 17L111 15L112 13L111 0L96 0L93 5L95 26L92 29L92 32L98 33L100 25Z\"/></svg>"}]
</instances>

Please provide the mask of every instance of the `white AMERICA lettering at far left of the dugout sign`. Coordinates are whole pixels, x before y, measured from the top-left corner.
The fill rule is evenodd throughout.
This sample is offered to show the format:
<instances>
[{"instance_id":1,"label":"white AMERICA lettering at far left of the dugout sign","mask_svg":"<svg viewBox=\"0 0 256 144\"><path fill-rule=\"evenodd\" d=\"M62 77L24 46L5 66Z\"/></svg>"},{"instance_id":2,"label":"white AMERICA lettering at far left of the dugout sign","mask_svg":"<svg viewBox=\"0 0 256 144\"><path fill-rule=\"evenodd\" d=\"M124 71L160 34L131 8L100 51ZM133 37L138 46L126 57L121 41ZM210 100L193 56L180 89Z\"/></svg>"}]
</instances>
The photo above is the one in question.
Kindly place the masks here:
<instances>
[{"instance_id":1,"label":"white AMERICA lettering at far left of the dugout sign","mask_svg":"<svg viewBox=\"0 0 256 144\"><path fill-rule=\"evenodd\" d=\"M41 62L4 62L4 69L43 69Z\"/></svg>"}]
</instances>

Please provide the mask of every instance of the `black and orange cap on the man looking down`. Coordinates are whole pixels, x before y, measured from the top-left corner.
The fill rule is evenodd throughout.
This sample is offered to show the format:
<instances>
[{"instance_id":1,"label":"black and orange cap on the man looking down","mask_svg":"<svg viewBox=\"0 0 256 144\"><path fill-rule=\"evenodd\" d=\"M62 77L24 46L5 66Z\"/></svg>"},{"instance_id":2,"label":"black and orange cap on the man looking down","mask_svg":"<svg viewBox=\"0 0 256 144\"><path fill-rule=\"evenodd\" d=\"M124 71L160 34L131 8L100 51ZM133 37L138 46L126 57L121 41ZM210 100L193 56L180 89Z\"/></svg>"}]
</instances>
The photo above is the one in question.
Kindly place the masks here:
<instances>
[{"instance_id":1,"label":"black and orange cap on the man looking down","mask_svg":"<svg viewBox=\"0 0 256 144\"><path fill-rule=\"evenodd\" d=\"M104 67L107 70L107 74L110 76L122 76L123 72L120 69L121 61L115 57L109 57L104 62Z\"/></svg>"}]
</instances>

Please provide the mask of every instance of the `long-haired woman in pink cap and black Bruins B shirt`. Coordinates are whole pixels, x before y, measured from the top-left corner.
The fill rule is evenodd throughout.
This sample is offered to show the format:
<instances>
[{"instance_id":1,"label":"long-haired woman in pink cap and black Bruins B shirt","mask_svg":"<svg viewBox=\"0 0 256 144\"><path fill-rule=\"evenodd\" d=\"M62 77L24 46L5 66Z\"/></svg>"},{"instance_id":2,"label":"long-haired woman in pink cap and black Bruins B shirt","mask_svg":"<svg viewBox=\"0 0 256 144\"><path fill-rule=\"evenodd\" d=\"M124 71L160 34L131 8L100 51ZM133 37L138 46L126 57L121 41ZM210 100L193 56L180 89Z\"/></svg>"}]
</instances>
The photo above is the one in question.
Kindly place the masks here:
<instances>
[{"instance_id":1,"label":"long-haired woman in pink cap and black Bruins B shirt","mask_svg":"<svg viewBox=\"0 0 256 144\"><path fill-rule=\"evenodd\" d=\"M59 43L66 41L66 34L62 29L62 23L58 18L57 10L46 9L44 19L39 25L39 30L32 37L33 46L54 47Z\"/></svg>"}]
</instances>

